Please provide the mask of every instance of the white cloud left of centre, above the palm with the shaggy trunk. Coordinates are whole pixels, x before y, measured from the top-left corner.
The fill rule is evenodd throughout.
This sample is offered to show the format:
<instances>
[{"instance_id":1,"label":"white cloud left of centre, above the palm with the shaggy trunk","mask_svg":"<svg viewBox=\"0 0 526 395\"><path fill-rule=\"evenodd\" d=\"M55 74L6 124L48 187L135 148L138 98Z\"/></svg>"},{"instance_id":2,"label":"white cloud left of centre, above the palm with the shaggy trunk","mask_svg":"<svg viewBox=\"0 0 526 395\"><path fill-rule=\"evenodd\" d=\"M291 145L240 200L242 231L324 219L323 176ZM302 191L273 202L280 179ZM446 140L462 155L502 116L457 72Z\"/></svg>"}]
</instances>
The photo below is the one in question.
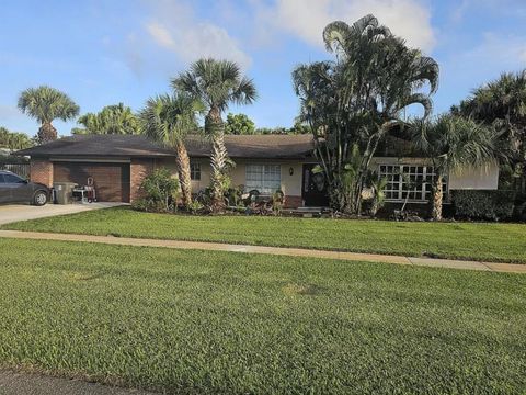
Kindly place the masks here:
<instances>
[{"instance_id":1,"label":"white cloud left of centre, above the palm with the shaggy trunk","mask_svg":"<svg viewBox=\"0 0 526 395\"><path fill-rule=\"evenodd\" d=\"M195 18L182 2L161 2L145 25L149 36L161 47L191 63L203 57L224 58L249 68L252 59L226 29Z\"/></svg>"}]
</instances>

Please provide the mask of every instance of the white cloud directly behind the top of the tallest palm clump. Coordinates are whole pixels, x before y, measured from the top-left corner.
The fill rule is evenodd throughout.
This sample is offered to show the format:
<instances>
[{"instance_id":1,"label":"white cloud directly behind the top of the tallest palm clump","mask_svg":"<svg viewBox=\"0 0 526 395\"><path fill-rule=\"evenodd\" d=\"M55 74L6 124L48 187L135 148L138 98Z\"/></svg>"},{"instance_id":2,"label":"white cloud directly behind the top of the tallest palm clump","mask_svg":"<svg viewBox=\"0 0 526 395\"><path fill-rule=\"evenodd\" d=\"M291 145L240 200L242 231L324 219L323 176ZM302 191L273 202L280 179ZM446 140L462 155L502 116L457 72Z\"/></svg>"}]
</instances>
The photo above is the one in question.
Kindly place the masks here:
<instances>
[{"instance_id":1,"label":"white cloud directly behind the top of the tallest palm clump","mask_svg":"<svg viewBox=\"0 0 526 395\"><path fill-rule=\"evenodd\" d=\"M431 12L418 0L276 0L266 9L259 5L271 24L312 45L323 44L328 23L341 20L351 24L369 13L411 46L431 52L435 44Z\"/></svg>"}]
</instances>

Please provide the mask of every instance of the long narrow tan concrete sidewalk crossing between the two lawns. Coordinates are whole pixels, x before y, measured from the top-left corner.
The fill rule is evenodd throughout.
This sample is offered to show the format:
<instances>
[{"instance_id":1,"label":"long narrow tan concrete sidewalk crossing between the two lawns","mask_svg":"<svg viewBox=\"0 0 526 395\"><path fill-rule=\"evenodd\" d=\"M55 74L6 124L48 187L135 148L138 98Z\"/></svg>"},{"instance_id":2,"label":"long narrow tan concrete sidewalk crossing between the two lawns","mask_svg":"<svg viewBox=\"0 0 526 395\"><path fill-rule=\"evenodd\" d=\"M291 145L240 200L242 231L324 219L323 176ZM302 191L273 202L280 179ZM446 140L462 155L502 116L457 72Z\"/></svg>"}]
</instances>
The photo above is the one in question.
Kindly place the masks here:
<instances>
[{"instance_id":1,"label":"long narrow tan concrete sidewalk crossing between the two lawns","mask_svg":"<svg viewBox=\"0 0 526 395\"><path fill-rule=\"evenodd\" d=\"M99 244L119 245L119 246L197 249L197 250L228 251L228 252L241 252L241 253L266 253L266 255L289 256L289 257L310 257L310 258L341 259L341 260L347 260L347 261L410 264L410 266L431 267L431 268L449 268L449 269L507 272L507 273L526 273L526 264L478 262L478 261L434 259L434 258L413 258L413 257L376 255L376 253L312 250L312 249L305 249L305 248L282 248L282 247L247 246L247 245L231 245L231 244L205 242L205 241L158 240L158 239L141 239L141 238L129 238L129 237L71 235L71 234L20 232L20 230L0 230L0 237L16 238L16 239L35 239L35 240L99 242Z\"/></svg>"}]
</instances>

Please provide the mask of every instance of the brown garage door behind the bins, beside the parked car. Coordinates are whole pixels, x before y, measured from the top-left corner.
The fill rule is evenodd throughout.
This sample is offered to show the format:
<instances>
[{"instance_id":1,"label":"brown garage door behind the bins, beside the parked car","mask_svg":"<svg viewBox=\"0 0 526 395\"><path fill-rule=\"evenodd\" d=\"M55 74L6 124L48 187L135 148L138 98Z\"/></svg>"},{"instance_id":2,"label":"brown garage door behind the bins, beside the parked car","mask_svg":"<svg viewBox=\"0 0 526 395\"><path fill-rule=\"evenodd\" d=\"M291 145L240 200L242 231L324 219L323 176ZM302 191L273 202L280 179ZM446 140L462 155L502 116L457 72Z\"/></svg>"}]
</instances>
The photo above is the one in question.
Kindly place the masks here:
<instances>
[{"instance_id":1,"label":"brown garage door behind the bins, beside the parked car","mask_svg":"<svg viewBox=\"0 0 526 395\"><path fill-rule=\"evenodd\" d=\"M54 182L76 182L85 185L93 178L100 202L129 202L129 165L55 162Z\"/></svg>"}]
</instances>

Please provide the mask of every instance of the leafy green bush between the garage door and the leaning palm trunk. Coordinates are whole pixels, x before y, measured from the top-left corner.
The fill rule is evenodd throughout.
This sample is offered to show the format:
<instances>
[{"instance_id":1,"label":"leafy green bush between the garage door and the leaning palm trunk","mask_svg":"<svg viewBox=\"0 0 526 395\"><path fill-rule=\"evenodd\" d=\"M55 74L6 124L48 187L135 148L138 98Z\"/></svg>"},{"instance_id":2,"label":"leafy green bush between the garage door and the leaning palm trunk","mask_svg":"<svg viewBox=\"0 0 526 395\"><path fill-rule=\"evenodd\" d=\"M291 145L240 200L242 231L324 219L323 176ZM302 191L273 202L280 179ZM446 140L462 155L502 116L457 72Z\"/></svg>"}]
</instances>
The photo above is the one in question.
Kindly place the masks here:
<instances>
[{"instance_id":1,"label":"leafy green bush between the garage door and the leaning palm trunk","mask_svg":"<svg viewBox=\"0 0 526 395\"><path fill-rule=\"evenodd\" d=\"M179 181L168 169L157 169L140 184L141 199L134 203L138 211L168 213L176 210Z\"/></svg>"}]
</instances>

